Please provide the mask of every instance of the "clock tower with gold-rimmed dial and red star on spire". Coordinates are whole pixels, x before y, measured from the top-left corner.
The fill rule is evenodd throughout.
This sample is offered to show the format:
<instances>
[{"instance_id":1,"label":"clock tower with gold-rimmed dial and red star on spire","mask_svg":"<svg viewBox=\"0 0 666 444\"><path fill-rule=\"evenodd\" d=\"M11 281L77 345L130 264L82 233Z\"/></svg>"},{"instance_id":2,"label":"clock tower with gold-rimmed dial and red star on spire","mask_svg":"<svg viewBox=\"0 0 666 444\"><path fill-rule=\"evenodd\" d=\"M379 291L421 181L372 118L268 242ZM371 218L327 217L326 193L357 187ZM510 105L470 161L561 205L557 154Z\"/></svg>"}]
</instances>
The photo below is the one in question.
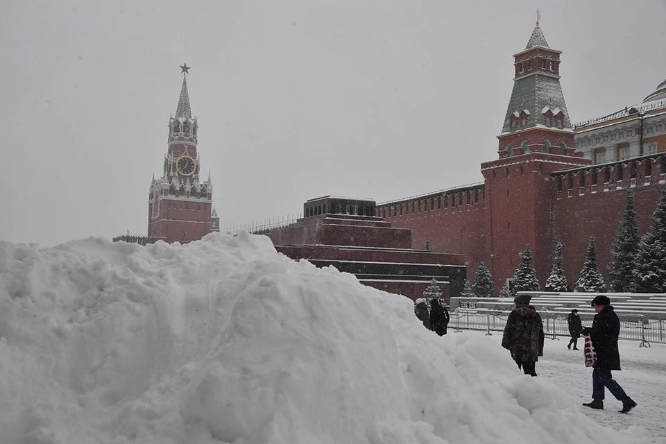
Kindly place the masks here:
<instances>
[{"instance_id":1,"label":"clock tower with gold-rimmed dial and red star on spire","mask_svg":"<svg viewBox=\"0 0 666 444\"><path fill-rule=\"evenodd\" d=\"M167 155L164 156L162 177L151 182L148 192L148 237L167 243L195 241L212 231L213 187L208 173L201 175L196 149L198 123L192 117L187 92L187 74L182 65L182 87L176 115L169 118Z\"/></svg>"}]
</instances>

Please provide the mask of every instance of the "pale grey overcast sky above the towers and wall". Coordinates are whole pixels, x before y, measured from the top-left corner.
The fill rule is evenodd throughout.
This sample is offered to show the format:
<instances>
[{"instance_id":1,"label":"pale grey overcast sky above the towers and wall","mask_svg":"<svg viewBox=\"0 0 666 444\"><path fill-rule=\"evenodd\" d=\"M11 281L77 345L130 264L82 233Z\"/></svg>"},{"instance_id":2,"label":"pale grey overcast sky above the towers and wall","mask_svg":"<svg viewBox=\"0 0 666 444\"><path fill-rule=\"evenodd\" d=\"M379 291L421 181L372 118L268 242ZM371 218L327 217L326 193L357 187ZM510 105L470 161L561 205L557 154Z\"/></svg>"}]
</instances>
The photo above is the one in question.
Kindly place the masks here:
<instances>
[{"instance_id":1,"label":"pale grey overcast sky above the towers and wall","mask_svg":"<svg viewBox=\"0 0 666 444\"><path fill-rule=\"evenodd\" d=\"M572 121L666 78L666 1L14 1L0 239L146 235L182 75L223 228L483 180L536 8Z\"/></svg>"}]
</instances>

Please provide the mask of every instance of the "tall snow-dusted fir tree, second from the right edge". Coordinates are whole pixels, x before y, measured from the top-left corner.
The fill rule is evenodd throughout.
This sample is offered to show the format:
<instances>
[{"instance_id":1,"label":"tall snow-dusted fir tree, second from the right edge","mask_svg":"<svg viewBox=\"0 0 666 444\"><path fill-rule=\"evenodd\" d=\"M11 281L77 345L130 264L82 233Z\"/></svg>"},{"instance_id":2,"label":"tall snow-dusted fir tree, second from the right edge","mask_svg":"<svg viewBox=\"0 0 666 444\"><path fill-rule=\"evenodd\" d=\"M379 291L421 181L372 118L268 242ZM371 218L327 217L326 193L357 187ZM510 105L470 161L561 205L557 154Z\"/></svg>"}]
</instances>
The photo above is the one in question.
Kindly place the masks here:
<instances>
[{"instance_id":1,"label":"tall snow-dusted fir tree, second from the right edge","mask_svg":"<svg viewBox=\"0 0 666 444\"><path fill-rule=\"evenodd\" d=\"M638 222L633 208L633 191L626 193L624 215L620 228L617 229L613 247L610 250L610 264L608 264L608 287L610 291L632 291L636 268L636 257L640 245Z\"/></svg>"}]
</instances>

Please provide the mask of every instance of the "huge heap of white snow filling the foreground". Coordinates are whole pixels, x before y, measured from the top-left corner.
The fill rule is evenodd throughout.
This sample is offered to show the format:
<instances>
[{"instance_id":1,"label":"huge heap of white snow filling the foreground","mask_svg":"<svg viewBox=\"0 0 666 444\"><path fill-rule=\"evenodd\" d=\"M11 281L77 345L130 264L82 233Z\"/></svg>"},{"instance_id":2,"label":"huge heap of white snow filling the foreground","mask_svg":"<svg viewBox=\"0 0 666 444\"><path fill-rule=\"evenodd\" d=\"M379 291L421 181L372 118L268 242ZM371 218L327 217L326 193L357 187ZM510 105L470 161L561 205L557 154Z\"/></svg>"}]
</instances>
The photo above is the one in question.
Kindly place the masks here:
<instances>
[{"instance_id":1,"label":"huge heap of white snow filling the foreground","mask_svg":"<svg viewBox=\"0 0 666 444\"><path fill-rule=\"evenodd\" d=\"M279 255L0 244L0 443L648 443L588 419L495 341Z\"/></svg>"}]
</instances>

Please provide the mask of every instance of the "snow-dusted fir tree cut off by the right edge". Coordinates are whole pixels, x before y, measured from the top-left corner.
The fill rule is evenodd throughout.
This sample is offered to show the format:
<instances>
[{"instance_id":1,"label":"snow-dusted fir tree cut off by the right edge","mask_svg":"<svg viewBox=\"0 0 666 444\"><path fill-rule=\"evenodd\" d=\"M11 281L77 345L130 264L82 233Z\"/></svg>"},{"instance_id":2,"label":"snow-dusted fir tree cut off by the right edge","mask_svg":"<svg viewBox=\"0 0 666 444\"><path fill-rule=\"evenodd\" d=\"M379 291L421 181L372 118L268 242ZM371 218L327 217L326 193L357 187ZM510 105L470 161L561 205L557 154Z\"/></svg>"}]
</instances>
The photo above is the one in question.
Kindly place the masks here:
<instances>
[{"instance_id":1,"label":"snow-dusted fir tree cut off by the right edge","mask_svg":"<svg viewBox=\"0 0 666 444\"><path fill-rule=\"evenodd\" d=\"M652 225L638 249L633 289L640 293L666 291L666 187L652 214Z\"/></svg>"}]
</instances>

